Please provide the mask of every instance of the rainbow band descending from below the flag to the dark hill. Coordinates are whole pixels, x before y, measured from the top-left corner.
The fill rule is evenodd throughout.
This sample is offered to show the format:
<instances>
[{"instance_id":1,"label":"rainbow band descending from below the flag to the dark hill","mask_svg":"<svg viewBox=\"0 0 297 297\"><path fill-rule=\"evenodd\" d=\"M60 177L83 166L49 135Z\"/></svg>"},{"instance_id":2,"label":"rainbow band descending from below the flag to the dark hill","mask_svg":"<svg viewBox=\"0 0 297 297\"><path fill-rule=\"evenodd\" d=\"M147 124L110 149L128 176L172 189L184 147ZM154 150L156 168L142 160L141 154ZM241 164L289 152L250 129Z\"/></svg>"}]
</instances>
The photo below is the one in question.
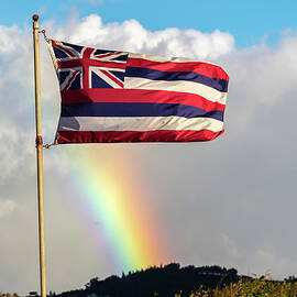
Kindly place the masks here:
<instances>
[{"instance_id":1,"label":"rainbow band descending from below the flag to the dark hill","mask_svg":"<svg viewBox=\"0 0 297 297\"><path fill-rule=\"evenodd\" d=\"M166 263L168 251L140 169L120 146L113 146L112 152L107 145L81 146L67 145L74 167L72 187L84 198L79 209L98 222L88 228L95 237L106 238L110 262L122 272ZM102 244L98 245L102 249Z\"/></svg>"}]
</instances>

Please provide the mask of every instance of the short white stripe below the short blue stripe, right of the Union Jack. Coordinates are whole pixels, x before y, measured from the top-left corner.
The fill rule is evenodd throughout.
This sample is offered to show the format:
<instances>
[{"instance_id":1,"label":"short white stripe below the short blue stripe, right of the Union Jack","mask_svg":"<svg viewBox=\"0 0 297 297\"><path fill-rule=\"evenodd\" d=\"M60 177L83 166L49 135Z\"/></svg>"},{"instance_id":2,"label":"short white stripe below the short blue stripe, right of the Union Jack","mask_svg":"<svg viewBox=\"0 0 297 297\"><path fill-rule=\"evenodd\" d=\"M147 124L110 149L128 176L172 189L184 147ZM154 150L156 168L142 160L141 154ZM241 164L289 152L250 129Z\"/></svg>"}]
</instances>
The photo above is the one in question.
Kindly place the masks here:
<instances>
[{"instance_id":1,"label":"short white stripe below the short blue stripe, right of the Union Jack","mask_svg":"<svg viewBox=\"0 0 297 297\"><path fill-rule=\"evenodd\" d=\"M151 80L140 77L125 77L124 88L189 92L202 96L204 98L212 102L226 105L227 101L227 92L221 92L202 84L186 80L166 81L166 80Z\"/></svg>"}]
</instances>

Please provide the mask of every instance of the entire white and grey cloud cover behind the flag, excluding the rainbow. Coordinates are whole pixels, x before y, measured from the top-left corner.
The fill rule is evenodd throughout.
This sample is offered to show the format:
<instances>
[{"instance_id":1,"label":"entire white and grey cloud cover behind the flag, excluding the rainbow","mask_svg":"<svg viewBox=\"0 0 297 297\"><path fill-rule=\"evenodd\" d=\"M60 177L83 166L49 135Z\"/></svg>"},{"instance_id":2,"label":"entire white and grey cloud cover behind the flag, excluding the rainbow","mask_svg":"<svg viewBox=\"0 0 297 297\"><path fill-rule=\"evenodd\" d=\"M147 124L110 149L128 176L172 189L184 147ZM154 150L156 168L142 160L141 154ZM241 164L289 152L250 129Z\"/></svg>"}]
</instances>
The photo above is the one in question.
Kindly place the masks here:
<instances>
[{"instance_id":1,"label":"entire white and grey cloud cover behind the flag, excluding the rainbow","mask_svg":"<svg viewBox=\"0 0 297 297\"><path fill-rule=\"evenodd\" d=\"M103 24L96 14L74 16L63 28L48 21L43 28L48 37L77 44L221 64L230 75L224 135L211 143L123 144L120 151L133 156L131 170L143 176L145 187L155 193L150 201L165 230L173 261L233 266L241 273L264 274L272 270L277 276L294 274L297 242L286 231L295 224L296 209L296 36L285 35L273 47L258 44L237 50L228 32L174 28L152 32L136 20ZM1 263L0 287L22 294L37 288L34 88L29 31L0 26L0 66L6 69L0 81L0 153L4 156L0 160L0 253L9 255ZM42 42L43 129L45 141L51 142L59 95L46 51ZM94 150L106 162L105 154L119 154L117 147ZM118 273L108 268L101 250L96 250L77 221L79 213L72 208L76 185L69 168L76 161L76 150L58 146L44 152L52 290L76 288L92 276ZM86 160L91 162L87 151ZM15 261L20 256L23 263ZM82 268L69 279L74 262ZM13 275L21 275L18 284Z\"/></svg>"}]
</instances>

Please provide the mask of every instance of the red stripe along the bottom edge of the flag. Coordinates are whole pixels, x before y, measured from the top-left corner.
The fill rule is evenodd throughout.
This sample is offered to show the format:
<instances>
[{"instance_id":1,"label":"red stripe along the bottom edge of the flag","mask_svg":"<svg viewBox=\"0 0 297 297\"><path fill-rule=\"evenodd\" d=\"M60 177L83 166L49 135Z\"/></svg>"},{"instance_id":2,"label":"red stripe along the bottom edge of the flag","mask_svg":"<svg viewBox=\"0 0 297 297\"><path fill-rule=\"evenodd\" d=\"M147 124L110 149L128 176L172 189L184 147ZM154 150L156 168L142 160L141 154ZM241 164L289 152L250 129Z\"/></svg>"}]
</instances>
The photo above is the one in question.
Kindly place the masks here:
<instances>
[{"instance_id":1,"label":"red stripe along the bottom edge of the flag","mask_svg":"<svg viewBox=\"0 0 297 297\"><path fill-rule=\"evenodd\" d=\"M119 143L119 142L201 142L211 141L224 131L58 131L57 143Z\"/></svg>"}]
</instances>

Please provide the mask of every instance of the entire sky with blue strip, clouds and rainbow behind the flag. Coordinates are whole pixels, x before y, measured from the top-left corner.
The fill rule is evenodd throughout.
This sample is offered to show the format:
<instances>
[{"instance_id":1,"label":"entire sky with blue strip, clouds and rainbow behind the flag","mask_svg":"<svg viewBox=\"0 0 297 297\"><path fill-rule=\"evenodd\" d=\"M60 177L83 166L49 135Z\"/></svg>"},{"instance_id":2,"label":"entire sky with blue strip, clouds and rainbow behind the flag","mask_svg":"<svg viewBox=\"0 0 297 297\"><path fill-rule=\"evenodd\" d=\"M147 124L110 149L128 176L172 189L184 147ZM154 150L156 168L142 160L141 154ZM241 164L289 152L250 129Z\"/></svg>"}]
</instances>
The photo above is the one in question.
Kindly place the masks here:
<instances>
[{"instance_id":1,"label":"entire sky with blue strip, clouds and rainbow behind the flag","mask_svg":"<svg viewBox=\"0 0 297 297\"><path fill-rule=\"evenodd\" d=\"M150 265L297 274L296 1L1 3L0 292L40 290L32 15L48 37L184 56L230 76L226 133L187 144L44 150L47 292ZM59 116L41 36L45 143Z\"/></svg>"}]
</instances>

